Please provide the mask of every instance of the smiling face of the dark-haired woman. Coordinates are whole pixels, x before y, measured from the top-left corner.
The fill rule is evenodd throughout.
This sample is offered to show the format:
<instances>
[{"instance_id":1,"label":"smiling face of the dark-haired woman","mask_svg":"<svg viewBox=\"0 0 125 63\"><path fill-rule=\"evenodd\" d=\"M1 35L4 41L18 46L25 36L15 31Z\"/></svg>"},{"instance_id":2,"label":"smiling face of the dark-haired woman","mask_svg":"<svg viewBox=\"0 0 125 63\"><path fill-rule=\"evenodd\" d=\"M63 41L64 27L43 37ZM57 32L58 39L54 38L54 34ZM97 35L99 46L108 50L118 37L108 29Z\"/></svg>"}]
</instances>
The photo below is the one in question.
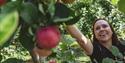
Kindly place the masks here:
<instances>
[{"instance_id":1,"label":"smiling face of the dark-haired woman","mask_svg":"<svg viewBox=\"0 0 125 63\"><path fill-rule=\"evenodd\" d=\"M112 40L113 32L107 21L98 20L94 24L94 34L99 42L107 42Z\"/></svg>"}]
</instances>

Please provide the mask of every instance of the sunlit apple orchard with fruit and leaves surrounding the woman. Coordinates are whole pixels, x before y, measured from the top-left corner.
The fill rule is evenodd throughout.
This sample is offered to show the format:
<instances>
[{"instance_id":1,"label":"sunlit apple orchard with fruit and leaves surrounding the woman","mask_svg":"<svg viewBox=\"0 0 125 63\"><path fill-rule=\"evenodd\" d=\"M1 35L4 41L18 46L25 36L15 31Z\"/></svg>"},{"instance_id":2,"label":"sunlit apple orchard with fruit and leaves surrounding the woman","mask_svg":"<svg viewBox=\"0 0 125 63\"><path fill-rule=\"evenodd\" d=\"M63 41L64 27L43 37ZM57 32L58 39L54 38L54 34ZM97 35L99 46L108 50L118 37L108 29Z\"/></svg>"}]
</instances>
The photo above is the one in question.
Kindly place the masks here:
<instances>
[{"instance_id":1,"label":"sunlit apple orchard with fruit and leaves surrounding the woman","mask_svg":"<svg viewBox=\"0 0 125 63\"><path fill-rule=\"evenodd\" d=\"M105 17L125 40L125 0L0 0L0 63L90 63L66 25L92 40L91 26ZM116 48L112 50L117 54ZM104 59L104 63L111 59ZM120 61L117 61L120 63Z\"/></svg>"}]
</instances>

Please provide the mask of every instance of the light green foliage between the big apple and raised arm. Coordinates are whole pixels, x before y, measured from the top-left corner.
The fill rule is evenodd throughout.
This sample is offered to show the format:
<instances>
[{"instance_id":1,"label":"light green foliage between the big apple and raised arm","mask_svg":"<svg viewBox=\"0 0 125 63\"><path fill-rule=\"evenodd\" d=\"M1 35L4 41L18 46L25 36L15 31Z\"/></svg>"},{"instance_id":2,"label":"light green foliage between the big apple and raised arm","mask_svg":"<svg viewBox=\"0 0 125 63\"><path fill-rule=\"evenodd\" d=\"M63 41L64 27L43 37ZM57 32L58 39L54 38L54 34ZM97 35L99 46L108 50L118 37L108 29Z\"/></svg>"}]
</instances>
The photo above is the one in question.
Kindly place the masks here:
<instances>
[{"instance_id":1,"label":"light green foliage between the big apple and raised arm","mask_svg":"<svg viewBox=\"0 0 125 63\"><path fill-rule=\"evenodd\" d=\"M77 42L74 42L74 39L70 35L62 35L61 43L53 50L53 52L52 57L56 54L53 58L58 59L60 63L80 63L90 61L90 58L83 54L83 50L79 47Z\"/></svg>"}]
</instances>

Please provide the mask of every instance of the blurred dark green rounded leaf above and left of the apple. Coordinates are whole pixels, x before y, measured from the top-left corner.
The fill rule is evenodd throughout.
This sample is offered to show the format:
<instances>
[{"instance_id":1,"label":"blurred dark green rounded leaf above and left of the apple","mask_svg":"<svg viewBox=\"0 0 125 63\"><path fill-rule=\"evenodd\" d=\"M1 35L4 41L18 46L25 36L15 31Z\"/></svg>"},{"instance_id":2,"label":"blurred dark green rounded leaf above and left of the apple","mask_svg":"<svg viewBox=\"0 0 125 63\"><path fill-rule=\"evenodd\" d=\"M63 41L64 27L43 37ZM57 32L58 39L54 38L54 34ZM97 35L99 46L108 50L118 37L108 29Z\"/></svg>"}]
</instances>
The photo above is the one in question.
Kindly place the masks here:
<instances>
[{"instance_id":1,"label":"blurred dark green rounded leaf above and left of the apple","mask_svg":"<svg viewBox=\"0 0 125 63\"><path fill-rule=\"evenodd\" d=\"M38 17L38 10L36 6L30 2L23 3L20 9L20 16L26 23L31 24L33 21L36 21Z\"/></svg>"}]
</instances>

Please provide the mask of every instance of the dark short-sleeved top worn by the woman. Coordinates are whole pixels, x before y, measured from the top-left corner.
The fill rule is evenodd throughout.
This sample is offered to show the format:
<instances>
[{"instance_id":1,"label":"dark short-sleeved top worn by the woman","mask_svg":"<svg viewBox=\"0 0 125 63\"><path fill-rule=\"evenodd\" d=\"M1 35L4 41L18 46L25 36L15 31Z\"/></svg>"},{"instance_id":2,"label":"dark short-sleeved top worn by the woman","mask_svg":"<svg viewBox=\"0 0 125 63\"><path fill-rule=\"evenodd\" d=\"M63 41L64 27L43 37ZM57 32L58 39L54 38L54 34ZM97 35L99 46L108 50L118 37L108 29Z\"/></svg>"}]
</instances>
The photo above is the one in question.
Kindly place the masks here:
<instances>
[{"instance_id":1,"label":"dark short-sleeved top worn by the woman","mask_svg":"<svg viewBox=\"0 0 125 63\"><path fill-rule=\"evenodd\" d=\"M122 53L122 55L124 56L123 52L125 52L125 46L122 44L115 45L115 46L119 49L120 53ZM119 59L118 57L114 56L111 51L109 51L107 48L105 48L101 44L93 43L93 53L90 56L92 63L102 63L102 60L107 57L113 60ZM123 58L120 60L124 61Z\"/></svg>"}]
</instances>

